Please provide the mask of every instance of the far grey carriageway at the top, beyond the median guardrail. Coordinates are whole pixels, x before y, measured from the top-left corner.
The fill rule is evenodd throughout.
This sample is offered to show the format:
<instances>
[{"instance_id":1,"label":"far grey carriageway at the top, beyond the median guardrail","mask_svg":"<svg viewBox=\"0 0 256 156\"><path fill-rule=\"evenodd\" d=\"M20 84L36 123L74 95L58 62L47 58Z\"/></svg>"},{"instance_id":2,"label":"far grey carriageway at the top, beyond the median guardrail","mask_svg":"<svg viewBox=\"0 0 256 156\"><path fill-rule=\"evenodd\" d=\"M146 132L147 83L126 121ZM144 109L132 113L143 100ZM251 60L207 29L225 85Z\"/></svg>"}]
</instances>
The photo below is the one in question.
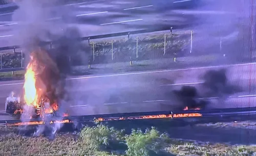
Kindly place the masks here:
<instances>
[{"instance_id":1,"label":"far grey carriageway at the top, beyond the median guardrail","mask_svg":"<svg viewBox=\"0 0 256 156\"><path fill-rule=\"evenodd\" d=\"M31 12L29 7L22 13L16 13L18 15L15 16L10 10L0 12L0 46L17 44L15 36L19 34L20 25L28 22L47 21L54 23L54 27L51 26L51 29L55 29L54 32L58 27L61 27L59 25L66 24L76 27L81 36L155 27L168 28L170 26L174 29L196 29L196 27L198 27L197 29L202 29L202 27L207 28L207 30L216 29L216 24L219 27L223 27L224 24L233 24L234 20L245 15L244 10L247 9L244 8L248 4L240 3L241 0L236 0L236 3L230 0L225 2L219 0L95 0L56 6L53 10L58 10L58 12L49 14L44 18L37 15L39 11L34 12L36 9ZM239 10L239 7L243 9L240 8ZM212 28L209 28L210 26ZM33 27L36 26L33 25ZM228 27L228 31L232 31L232 27Z\"/></svg>"}]
</instances>

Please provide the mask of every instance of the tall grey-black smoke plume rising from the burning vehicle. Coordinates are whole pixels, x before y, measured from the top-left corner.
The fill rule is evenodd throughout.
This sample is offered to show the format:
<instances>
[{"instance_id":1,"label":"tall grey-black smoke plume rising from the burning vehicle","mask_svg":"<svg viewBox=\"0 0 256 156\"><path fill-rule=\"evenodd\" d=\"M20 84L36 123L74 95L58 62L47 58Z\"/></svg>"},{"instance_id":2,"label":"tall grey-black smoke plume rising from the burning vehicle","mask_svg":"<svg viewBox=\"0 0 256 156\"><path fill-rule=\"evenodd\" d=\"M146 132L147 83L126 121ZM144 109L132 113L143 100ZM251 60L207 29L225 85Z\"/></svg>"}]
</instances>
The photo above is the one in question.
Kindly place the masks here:
<instances>
[{"instance_id":1,"label":"tall grey-black smoke plume rising from the burning vehicle","mask_svg":"<svg viewBox=\"0 0 256 156\"><path fill-rule=\"evenodd\" d=\"M56 114L60 115L65 113L68 107L66 77L71 71L70 59L79 55L78 58L84 59L87 54L84 53L84 46L77 42L81 37L78 29L68 27L65 23L68 21L69 9L59 4L61 1L58 0L24 0L17 3L19 8L12 18L17 22L14 29L15 42L22 45L23 51L27 53L27 63L35 60L36 68L43 68L36 75L36 79L45 85L44 96L49 97L51 103L57 101L59 109ZM42 44L56 40L58 42L54 42L51 49L50 45ZM60 123L55 124L51 130L52 134L54 135L60 127ZM44 129L44 126L38 127L35 135L39 135Z\"/></svg>"}]
</instances>

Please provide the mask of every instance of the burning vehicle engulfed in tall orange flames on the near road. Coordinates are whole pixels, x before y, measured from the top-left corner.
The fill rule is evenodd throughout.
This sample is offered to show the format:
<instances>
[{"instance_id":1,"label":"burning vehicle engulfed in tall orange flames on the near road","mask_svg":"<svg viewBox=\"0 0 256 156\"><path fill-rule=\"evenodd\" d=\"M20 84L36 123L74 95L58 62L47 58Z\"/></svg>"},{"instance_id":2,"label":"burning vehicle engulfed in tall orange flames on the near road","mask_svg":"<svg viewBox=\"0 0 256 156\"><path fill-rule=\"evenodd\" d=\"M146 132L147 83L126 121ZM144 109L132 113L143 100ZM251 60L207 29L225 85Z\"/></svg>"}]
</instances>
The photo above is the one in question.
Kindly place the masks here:
<instances>
[{"instance_id":1,"label":"burning vehicle engulfed in tall orange flames on the near road","mask_svg":"<svg viewBox=\"0 0 256 156\"><path fill-rule=\"evenodd\" d=\"M60 71L53 58L46 50L37 48L30 54L26 68L24 95L17 98L12 93L6 100L6 112L16 116L26 115L28 118L54 116L64 90L60 81ZM67 116L67 113L62 116Z\"/></svg>"}]
</instances>

